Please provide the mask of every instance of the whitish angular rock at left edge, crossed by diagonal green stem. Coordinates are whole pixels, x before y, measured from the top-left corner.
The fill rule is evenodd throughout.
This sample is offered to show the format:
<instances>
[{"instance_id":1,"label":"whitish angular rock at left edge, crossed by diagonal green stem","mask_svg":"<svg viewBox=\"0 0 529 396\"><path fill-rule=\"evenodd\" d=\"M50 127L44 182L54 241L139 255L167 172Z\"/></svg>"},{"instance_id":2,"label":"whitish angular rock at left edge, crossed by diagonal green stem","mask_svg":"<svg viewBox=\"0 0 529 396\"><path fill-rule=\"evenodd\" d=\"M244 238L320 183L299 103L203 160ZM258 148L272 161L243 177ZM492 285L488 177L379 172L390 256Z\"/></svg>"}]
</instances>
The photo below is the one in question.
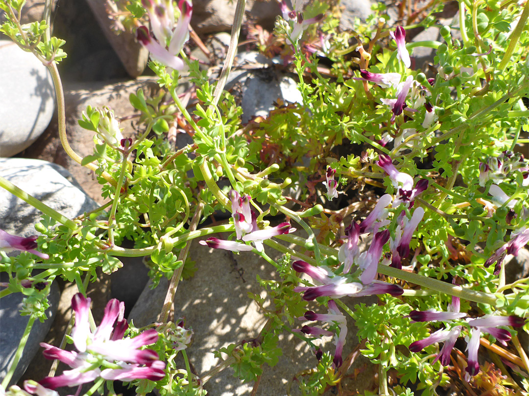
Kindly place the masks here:
<instances>
[{"instance_id":1,"label":"whitish angular rock at left edge, crossed by diagonal green stem","mask_svg":"<svg viewBox=\"0 0 529 396\"><path fill-rule=\"evenodd\" d=\"M84 193L62 166L40 159L0 158L0 176L57 210L68 218L94 210L98 205ZM40 211L21 199L0 190L2 228L12 234L35 234Z\"/></svg>"}]
</instances>

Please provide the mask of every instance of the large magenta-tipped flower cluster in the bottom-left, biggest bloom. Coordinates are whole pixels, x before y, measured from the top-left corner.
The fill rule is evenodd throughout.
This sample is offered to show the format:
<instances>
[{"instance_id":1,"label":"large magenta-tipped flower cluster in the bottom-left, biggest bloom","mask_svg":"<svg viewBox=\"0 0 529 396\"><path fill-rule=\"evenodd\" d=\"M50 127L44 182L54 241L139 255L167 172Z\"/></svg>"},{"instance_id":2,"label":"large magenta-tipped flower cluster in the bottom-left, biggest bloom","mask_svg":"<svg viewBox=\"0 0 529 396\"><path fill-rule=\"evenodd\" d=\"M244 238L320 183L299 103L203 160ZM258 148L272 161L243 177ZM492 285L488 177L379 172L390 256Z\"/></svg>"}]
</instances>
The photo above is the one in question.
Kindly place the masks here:
<instances>
[{"instance_id":1,"label":"large magenta-tipped flower cluster in the bottom-left, biggest bloom","mask_svg":"<svg viewBox=\"0 0 529 396\"><path fill-rule=\"evenodd\" d=\"M61 386L76 386L92 382L97 378L105 380L132 381L149 379L158 381L165 376L165 363L158 360L158 354L150 349L140 349L158 340L158 332L149 329L134 338L123 338L129 324L123 319L124 304L116 299L108 301L101 325L90 331L88 322L90 298L78 293L71 300L75 312L75 325L71 337L77 349L65 351L41 343L44 357L58 359L72 370L56 377L46 377L38 384L26 381L24 388L39 396L54 395ZM103 365L103 370L99 367ZM107 368L112 367L112 368ZM51 390L51 391L50 391Z\"/></svg>"}]
</instances>

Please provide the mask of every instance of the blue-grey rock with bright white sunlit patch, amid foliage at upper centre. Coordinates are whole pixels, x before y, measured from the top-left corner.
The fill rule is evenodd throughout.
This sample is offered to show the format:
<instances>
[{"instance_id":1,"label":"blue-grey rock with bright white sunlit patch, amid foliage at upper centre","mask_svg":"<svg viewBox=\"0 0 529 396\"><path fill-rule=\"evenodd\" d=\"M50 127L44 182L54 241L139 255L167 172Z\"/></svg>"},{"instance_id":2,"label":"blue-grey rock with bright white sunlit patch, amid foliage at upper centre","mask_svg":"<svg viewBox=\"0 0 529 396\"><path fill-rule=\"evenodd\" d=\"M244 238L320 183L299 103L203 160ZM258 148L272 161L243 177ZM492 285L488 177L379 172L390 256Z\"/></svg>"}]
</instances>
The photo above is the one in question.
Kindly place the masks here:
<instances>
[{"instance_id":1,"label":"blue-grey rock with bright white sunlit patch, amid foliage at upper centre","mask_svg":"<svg viewBox=\"0 0 529 396\"><path fill-rule=\"evenodd\" d=\"M273 69L249 72L242 87L242 122L248 122L253 116L268 116L277 99L302 103L293 78Z\"/></svg>"}]
</instances>

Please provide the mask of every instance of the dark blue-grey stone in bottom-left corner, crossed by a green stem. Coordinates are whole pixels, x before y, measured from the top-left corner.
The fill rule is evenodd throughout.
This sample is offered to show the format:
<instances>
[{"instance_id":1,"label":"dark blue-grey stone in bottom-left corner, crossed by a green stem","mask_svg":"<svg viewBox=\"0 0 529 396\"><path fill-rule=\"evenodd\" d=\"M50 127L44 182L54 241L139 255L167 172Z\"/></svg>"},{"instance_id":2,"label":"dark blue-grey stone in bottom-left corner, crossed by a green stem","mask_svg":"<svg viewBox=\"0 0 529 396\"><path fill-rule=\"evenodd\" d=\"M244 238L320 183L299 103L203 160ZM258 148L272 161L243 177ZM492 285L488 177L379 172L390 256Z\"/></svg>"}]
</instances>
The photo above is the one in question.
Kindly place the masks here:
<instances>
[{"instance_id":1,"label":"dark blue-grey stone in bottom-left corner, crossed by a green stem","mask_svg":"<svg viewBox=\"0 0 529 396\"><path fill-rule=\"evenodd\" d=\"M8 281L6 272L2 273L2 281ZM33 356L37 354L40 348L39 344L44 341L44 337L48 334L57 312L59 295L59 287L56 283L53 283L48 295L50 304L50 307L46 310L48 319L44 320L43 323L40 320L35 320L28 342L24 346L22 357L9 383L10 385L15 384L24 374ZM24 297L22 293L13 293L2 297L2 304L0 305L0 322L2 323L2 332L0 332L0 378L2 379L10 369L20 339L24 334L26 325L28 325L29 316L21 316L19 313Z\"/></svg>"}]
</instances>

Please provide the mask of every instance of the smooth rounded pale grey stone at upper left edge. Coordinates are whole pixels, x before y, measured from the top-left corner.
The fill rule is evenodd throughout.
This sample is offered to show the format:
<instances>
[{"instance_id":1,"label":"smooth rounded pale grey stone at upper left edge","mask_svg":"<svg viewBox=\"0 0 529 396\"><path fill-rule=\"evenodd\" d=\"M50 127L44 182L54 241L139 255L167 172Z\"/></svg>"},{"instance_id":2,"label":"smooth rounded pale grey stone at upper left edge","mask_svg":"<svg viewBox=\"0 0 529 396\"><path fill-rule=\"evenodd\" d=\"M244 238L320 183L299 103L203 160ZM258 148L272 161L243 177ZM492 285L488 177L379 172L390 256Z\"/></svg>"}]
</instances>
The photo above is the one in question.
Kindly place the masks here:
<instances>
[{"instance_id":1,"label":"smooth rounded pale grey stone at upper left edge","mask_svg":"<svg viewBox=\"0 0 529 396\"><path fill-rule=\"evenodd\" d=\"M0 156L29 147L53 116L55 97L48 69L12 41L0 40Z\"/></svg>"}]
</instances>

